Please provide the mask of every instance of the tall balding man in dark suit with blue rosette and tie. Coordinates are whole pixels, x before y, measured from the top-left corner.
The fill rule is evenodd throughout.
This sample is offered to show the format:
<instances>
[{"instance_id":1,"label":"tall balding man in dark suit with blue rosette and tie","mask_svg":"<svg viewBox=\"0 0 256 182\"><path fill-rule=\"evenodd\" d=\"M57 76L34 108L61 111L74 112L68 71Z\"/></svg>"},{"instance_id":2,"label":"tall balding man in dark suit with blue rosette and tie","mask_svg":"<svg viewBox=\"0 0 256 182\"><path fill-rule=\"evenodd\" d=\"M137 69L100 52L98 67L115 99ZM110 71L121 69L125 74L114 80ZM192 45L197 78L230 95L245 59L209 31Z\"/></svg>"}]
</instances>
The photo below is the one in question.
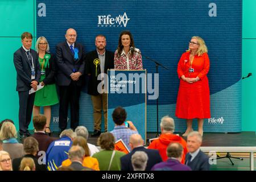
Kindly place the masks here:
<instances>
[{"instance_id":1,"label":"tall balding man in dark suit with blue rosette and tie","mask_svg":"<svg viewBox=\"0 0 256 182\"><path fill-rule=\"evenodd\" d=\"M71 103L71 128L79 126L79 97L84 74L84 47L76 42L76 30L69 28L67 41L56 46L57 85L59 85L59 128L67 128L68 104ZM61 132L60 131L60 132Z\"/></svg>"}]
</instances>

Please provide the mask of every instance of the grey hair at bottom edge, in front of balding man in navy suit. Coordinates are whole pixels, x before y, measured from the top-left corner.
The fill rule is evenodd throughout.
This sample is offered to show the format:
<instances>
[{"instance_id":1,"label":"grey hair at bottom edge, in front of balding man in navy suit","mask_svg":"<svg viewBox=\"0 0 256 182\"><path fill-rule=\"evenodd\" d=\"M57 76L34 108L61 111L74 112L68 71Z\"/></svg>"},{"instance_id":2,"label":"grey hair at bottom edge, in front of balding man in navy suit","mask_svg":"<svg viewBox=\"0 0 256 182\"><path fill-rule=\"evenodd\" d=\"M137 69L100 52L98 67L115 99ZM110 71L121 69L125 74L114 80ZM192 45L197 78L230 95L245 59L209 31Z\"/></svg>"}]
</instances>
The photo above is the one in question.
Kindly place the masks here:
<instances>
[{"instance_id":1,"label":"grey hair at bottom edge, in front of balding man in navy suit","mask_svg":"<svg viewBox=\"0 0 256 182\"><path fill-rule=\"evenodd\" d=\"M131 164L134 171L144 171L147 166L148 156L146 152L137 151L131 156Z\"/></svg>"}]
</instances>

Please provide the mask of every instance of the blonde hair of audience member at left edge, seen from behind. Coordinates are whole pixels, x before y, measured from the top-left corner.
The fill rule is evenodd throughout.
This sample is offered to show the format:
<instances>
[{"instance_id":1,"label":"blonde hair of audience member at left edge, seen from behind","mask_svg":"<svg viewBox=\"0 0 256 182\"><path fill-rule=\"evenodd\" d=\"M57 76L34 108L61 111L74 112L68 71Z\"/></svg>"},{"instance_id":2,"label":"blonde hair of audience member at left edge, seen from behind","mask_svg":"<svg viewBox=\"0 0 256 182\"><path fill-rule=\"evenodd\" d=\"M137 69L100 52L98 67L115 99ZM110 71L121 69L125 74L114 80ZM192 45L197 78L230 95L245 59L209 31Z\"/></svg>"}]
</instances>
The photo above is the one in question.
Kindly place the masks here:
<instances>
[{"instance_id":1,"label":"blonde hair of audience member at left edge, seen from behind","mask_svg":"<svg viewBox=\"0 0 256 182\"><path fill-rule=\"evenodd\" d=\"M10 138L17 138L16 128L11 122L4 122L0 130L0 139L6 140Z\"/></svg>"}]
</instances>

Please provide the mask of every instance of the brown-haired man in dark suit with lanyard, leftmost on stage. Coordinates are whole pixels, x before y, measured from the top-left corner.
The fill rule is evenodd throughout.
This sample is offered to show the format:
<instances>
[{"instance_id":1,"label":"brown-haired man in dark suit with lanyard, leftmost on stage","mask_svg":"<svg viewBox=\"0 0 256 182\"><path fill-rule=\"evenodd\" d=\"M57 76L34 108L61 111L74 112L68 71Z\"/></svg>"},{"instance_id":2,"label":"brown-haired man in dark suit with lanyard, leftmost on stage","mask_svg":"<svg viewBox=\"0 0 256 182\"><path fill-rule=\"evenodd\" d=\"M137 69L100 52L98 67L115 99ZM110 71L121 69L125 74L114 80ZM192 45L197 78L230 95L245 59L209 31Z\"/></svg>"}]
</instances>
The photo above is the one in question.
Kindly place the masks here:
<instances>
[{"instance_id":1,"label":"brown-haired man in dark suit with lanyard, leftmost on stage","mask_svg":"<svg viewBox=\"0 0 256 182\"><path fill-rule=\"evenodd\" d=\"M32 35L24 32L21 36L22 47L14 52L14 66L17 72L16 91L19 93L19 134L23 139L29 137L28 125L35 100L35 93L29 94L31 88L36 90L40 80L40 67L36 51L31 49Z\"/></svg>"}]
</instances>

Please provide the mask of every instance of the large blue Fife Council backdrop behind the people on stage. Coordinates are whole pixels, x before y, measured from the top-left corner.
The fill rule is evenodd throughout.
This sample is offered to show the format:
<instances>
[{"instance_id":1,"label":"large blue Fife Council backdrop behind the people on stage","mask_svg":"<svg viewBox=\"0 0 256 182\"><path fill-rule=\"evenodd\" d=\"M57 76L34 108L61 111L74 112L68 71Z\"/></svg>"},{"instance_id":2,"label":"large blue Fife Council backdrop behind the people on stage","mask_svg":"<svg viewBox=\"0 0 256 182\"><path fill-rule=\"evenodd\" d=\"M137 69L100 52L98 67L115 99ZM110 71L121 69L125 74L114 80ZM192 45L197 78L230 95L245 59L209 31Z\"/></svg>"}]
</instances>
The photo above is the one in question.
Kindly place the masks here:
<instances>
[{"instance_id":1,"label":"large blue Fife Council backdrop behind the people on stage","mask_svg":"<svg viewBox=\"0 0 256 182\"><path fill-rule=\"evenodd\" d=\"M175 117L179 78L177 63L192 36L201 36L208 47L211 118L205 132L241 131L241 0L141 0L61 1L37 0L36 36L45 36L50 50L65 40L65 31L77 31L85 51L95 49L95 36L106 36L109 51L115 51L121 31L130 30L135 47L143 55L170 68L159 67L159 118L175 119L175 131L184 131L184 119ZM155 64L143 57L143 69L155 73ZM86 86L81 94L80 124L93 131L93 110ZM156 131L156 101L147 100L147 131ZM57 126L58 105L52 107L52 125ZM197 122L193 123L196 129Z\"/></svg>"}]
</instances>

